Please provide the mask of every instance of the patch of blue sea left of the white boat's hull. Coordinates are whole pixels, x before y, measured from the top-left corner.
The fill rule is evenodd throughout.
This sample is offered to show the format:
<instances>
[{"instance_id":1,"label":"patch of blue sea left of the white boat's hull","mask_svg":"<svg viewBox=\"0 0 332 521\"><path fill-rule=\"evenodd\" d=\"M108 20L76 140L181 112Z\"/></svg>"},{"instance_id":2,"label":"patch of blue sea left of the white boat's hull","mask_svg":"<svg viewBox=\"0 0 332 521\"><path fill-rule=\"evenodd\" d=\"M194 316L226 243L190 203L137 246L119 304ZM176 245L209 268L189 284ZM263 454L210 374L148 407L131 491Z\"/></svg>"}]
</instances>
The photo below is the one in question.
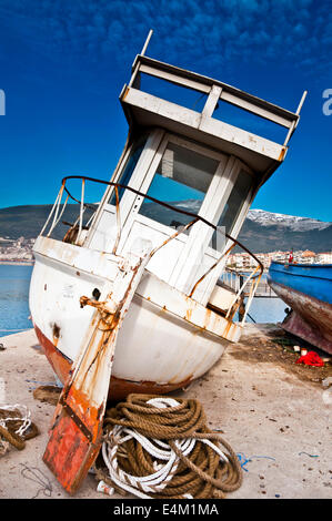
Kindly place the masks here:
<instances>
[{"instance_id":1,"label":"patch of blue sea left of the white boat's hull","mask_svg":"<svg viewBox=\"0 0 332 521\"><path fill-rule=\"evenodd\" d=\"M0 337L30 329L29 285L32 266L0 265Z\"/></svg>"}]
</instances>

